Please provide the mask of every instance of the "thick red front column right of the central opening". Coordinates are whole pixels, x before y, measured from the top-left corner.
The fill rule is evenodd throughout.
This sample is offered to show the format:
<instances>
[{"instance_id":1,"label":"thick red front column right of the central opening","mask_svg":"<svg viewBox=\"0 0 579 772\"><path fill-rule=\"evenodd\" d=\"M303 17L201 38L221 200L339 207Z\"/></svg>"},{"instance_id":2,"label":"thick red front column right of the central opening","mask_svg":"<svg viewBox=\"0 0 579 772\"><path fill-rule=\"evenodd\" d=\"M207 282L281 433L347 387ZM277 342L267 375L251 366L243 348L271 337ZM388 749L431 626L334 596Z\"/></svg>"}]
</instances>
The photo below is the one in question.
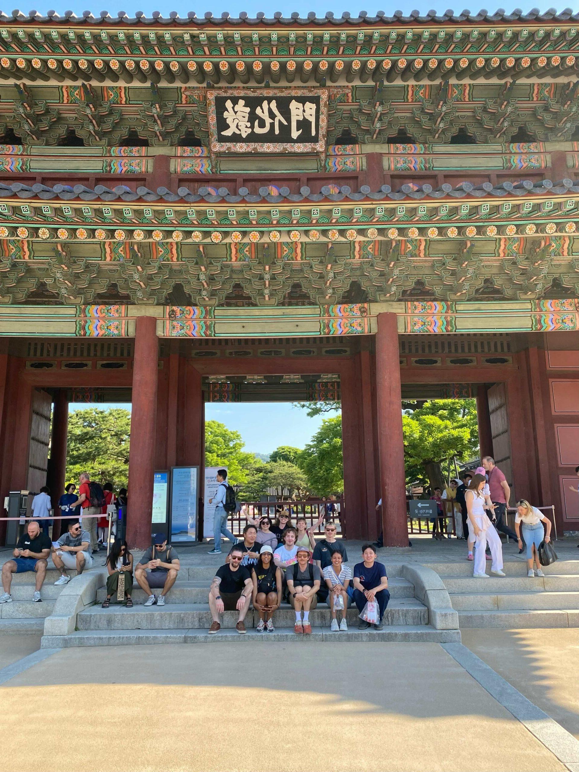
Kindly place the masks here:
<instances>
[{"instance_id":1,"label":"thick red front column right of the central opening","mask_svg":"<svg viewBox=\"0 0 579 772\"><path fill-rule=\"evenodd\" d=\"M395 313L379 313L376 333L376 397L380 491L385 547L408 547L402 393Z\"/></svg>"}]
</instances>

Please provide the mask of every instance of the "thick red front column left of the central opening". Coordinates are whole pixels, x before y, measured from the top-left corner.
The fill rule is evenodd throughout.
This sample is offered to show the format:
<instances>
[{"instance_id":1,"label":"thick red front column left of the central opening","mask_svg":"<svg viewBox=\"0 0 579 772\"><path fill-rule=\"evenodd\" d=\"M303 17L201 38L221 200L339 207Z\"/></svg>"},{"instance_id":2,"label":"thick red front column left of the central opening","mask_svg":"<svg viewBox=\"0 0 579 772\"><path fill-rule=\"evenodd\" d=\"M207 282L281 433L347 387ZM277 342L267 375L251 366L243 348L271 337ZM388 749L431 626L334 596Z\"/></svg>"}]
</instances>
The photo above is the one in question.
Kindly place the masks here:
<instances>
[{"instance_id":1,"label":"thick red front column left of the central opening","mask_svg":"<svg viewBox=\"0 0 579 772\"><path fill-rule=\"evenodd\" d=\"M157 320L154 317L137 317L127 515L127 542L137 549L151 545L158 359Z\"/></svg>"}]
</instances>

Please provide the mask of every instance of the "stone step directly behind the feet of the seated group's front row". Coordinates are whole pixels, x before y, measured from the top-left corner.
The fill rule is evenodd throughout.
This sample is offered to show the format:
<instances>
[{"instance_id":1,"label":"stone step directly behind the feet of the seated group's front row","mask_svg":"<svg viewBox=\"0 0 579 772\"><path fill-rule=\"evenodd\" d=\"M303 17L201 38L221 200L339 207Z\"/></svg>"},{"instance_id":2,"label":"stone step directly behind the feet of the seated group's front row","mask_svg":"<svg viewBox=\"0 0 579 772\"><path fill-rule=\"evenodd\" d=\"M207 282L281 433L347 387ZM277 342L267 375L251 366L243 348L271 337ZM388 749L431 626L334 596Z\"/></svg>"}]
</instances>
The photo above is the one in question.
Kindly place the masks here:
<instances>
[{"instance_id":1,"label":"stone step directly behind the feet of the seated group's front row","mask_svg":"<svg viewBox=\"0 0 579 772\"><path fill-rule=\"evenodd\" d=\"M236 611L225 611L222 615L223 628L235 628L239 615ZM293 627L295 614L285 605L276 611L274 625ZM348 624L357 624L357 609L347 612ZM313 625L330 626L330 609L320 604L320 608L310 612ZM245 617L245 626L253 628L259 621L259 615L253 609ZM81 611L76 625L80 630L154 630L154 629L189 629L208 628L212 618L206 603L172 604L159 608L124 608L111 605L110 608L92 606ZM384 625L427 625L428 609L415 598L397 598L388 604L384 613Z\"/></svg>"}]
</instances>

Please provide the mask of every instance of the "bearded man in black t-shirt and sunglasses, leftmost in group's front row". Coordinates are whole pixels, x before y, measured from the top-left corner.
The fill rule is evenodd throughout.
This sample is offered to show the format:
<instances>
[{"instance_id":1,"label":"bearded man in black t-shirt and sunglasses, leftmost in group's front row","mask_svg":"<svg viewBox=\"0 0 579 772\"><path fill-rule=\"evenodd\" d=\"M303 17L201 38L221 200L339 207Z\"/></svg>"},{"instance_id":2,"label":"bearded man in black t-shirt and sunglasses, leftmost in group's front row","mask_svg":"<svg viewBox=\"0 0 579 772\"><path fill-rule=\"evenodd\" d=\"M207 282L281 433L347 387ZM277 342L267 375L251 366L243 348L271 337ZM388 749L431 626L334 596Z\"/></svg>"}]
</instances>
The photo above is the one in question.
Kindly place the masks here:
<instances>
[{"instance_id":1,"label":"bearded man in black t-shirt and sunglasses, leftmost in group's front row","mask_svg":"<svg viewBox=\"0 0 579 772\"><path fill-rule=\"evenodd\" d=\"M221 629L219 615L223 611L239 611L239 620L235 629L245 633L244 619L252 597L252 579L245 566L240 565L243 558L241 547L232 547L229 563L217 569L209 590L209 609L213 618L209 635Z\"/></svg>"}]
</instances>

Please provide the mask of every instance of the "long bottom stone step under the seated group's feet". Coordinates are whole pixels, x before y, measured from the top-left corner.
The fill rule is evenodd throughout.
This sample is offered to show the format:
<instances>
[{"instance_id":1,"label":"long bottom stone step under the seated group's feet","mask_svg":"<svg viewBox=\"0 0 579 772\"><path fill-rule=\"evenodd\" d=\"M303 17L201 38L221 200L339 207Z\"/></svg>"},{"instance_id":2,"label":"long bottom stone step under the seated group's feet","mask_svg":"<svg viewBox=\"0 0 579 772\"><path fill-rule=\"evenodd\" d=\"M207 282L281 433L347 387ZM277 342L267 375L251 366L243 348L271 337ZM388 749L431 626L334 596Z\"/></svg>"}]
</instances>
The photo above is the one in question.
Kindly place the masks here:
<instances>
[{"instance_id":1,"label":"long bottom stone step under the seated group's feet","mask_svg":"<svg viewBox=\"0 0 579 772\"><path fill-rule=\"evenodd\" d=\"M459 630L435 630L430 625L384 625L383 631L374 629L359 631L357 625L347 632L331 632L329 628L313 627L312 635L295 635L293 628L276 628L273 633L258 633L249 628L245 635L235 629L222 629L215 635L208 635L203 629L174 630L79 630L70 635L45 635L41 648L69 648L73 646L134 646L167 643L256 643L302 641L350 641L350 642L423 642L460 643Z\"/></svg>"}]
</instances>

